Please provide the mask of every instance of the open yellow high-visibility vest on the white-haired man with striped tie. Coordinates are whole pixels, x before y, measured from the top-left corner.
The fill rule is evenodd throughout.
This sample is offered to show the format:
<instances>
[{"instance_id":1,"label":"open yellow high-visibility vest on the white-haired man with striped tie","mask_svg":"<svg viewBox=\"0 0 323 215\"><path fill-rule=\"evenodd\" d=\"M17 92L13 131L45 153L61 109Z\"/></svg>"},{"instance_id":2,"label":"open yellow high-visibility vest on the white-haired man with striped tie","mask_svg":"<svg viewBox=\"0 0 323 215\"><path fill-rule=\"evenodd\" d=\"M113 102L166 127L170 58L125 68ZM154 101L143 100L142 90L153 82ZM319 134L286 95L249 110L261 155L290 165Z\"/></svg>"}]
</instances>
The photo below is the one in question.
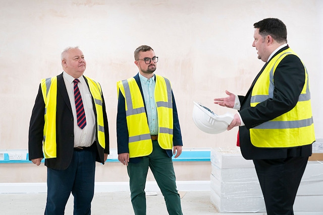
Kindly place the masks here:
<instances>
[{"instance_id":1,"label":"open yellow high-visibility vest on the white-haired man with striped tie","mask_svg":"<svg viewBox=\"0 0 323 215\"><path fill-rule=\"evenodd\" d=\"M85 77L85 76L84 76ZM104 123L103 123L103 109L102 109L102 90L99 83L94 80L85 77L90 93L93 97L96 110L96 139L100 146L105 148L105 135L104 135ZM45 103L45 124L43 130L43 152L44 157L56 158L57 156L57 144L56 144L56 110L57 110L57 76L41 80L41 91Z\"/></svg>"}]
</instances>

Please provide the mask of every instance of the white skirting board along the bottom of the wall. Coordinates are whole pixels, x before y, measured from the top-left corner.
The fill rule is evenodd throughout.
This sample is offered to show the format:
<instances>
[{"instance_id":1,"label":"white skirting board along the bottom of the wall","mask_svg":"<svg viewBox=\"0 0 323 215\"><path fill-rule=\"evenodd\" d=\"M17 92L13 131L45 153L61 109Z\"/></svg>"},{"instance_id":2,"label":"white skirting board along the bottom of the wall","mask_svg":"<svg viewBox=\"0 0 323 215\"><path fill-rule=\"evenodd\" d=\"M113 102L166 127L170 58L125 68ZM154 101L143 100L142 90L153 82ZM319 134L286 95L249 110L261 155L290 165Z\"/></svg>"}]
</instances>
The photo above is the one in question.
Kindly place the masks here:
<instances>
[{"instance_id":1,"label":"white skirting board along the bottom of the wall","mask_svg":"<svg viewBox=\"0 0 323 215\"><path fill-rule=\"evenodd\" d=\"M210 191L210 181L177 181L179 191ZM129 182L95 182L94 192L130 192ZM159 191L155 181L146 182L146 192ZM46 183L0 183L0 193L46 193Z\"/></svg>"}]
</instances>

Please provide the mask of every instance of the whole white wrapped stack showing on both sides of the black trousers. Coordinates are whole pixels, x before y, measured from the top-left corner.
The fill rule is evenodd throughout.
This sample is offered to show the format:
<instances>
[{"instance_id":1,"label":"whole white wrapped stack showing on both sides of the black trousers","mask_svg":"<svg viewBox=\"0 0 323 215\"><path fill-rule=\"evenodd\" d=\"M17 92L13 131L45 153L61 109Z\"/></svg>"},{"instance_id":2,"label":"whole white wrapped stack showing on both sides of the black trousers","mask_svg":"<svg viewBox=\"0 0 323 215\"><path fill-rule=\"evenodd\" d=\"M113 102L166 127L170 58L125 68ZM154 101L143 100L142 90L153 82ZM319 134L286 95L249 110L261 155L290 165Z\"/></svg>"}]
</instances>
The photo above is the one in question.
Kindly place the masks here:
<instances>
[{"instance_id":1,"label":"whole white wrapped stack showing on both sides of the black trousers","mask_svg":"<svg viewBox=\"0 0 323 215\"><path fill-rule=\"evenodd\" d=\"M220 212L265 212L259 181L251 160L239 147L211 149L211 202ZM323 163L309 161L294 203L294 211L322 211Z\"/></svg>"}]
</instances>

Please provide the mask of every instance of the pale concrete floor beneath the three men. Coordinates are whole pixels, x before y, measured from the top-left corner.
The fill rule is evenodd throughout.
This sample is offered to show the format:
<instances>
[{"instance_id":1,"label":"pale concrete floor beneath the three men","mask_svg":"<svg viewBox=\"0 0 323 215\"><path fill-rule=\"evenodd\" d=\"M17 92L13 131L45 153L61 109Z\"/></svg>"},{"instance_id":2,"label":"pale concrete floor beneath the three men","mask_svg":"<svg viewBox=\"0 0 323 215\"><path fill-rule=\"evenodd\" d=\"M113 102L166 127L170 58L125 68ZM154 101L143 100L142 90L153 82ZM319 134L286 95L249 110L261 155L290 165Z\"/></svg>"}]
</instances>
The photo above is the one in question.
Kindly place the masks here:
<instances>
[{"instance_id":1,"label":"pale concrete floor beneath the three men","mask_svg":"<svg viewBox=\"0 0 323 215\"><path fill-rule=\"evenodd\" d=\"M266 213L219 213L210 202L208 191L181 191L182 210L185 215L264 215ZM147 192L147 215L167 215L163 195L160 192ZM46 193L0 193L1 214L23 215L43 214ZM92 201L93 215L134 214L129 192L95 193ZM73 196L69 198L65 214L73 214ZM316 212L295 212L295 215L318 215Z\"/></svg>"}]
</instances>

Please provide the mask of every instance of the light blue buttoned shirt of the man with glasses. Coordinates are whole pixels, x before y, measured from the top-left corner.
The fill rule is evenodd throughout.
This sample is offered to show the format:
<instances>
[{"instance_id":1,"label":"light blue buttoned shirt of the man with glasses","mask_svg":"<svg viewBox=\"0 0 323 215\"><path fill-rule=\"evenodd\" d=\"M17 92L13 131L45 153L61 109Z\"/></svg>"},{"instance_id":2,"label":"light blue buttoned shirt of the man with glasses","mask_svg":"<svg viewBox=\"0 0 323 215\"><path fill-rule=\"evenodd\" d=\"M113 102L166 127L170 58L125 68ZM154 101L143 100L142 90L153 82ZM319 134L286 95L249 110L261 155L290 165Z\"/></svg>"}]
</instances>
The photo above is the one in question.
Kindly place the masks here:
<instances>
[{"instance_id":1,"label":"light blue buttoned shirt of the man with glasses","mask_svg":"<svg viewBox=\"0 0 323 215\"><path fill-rule=\"evenodd\" d=\"M153 75L152 78L147 79L139 73L139 79L142 87L143 97L145 99L150 135L156 135L158 134L158 117L154 98L156 85L155 75Z\"/></svg>"}]
</instances>

